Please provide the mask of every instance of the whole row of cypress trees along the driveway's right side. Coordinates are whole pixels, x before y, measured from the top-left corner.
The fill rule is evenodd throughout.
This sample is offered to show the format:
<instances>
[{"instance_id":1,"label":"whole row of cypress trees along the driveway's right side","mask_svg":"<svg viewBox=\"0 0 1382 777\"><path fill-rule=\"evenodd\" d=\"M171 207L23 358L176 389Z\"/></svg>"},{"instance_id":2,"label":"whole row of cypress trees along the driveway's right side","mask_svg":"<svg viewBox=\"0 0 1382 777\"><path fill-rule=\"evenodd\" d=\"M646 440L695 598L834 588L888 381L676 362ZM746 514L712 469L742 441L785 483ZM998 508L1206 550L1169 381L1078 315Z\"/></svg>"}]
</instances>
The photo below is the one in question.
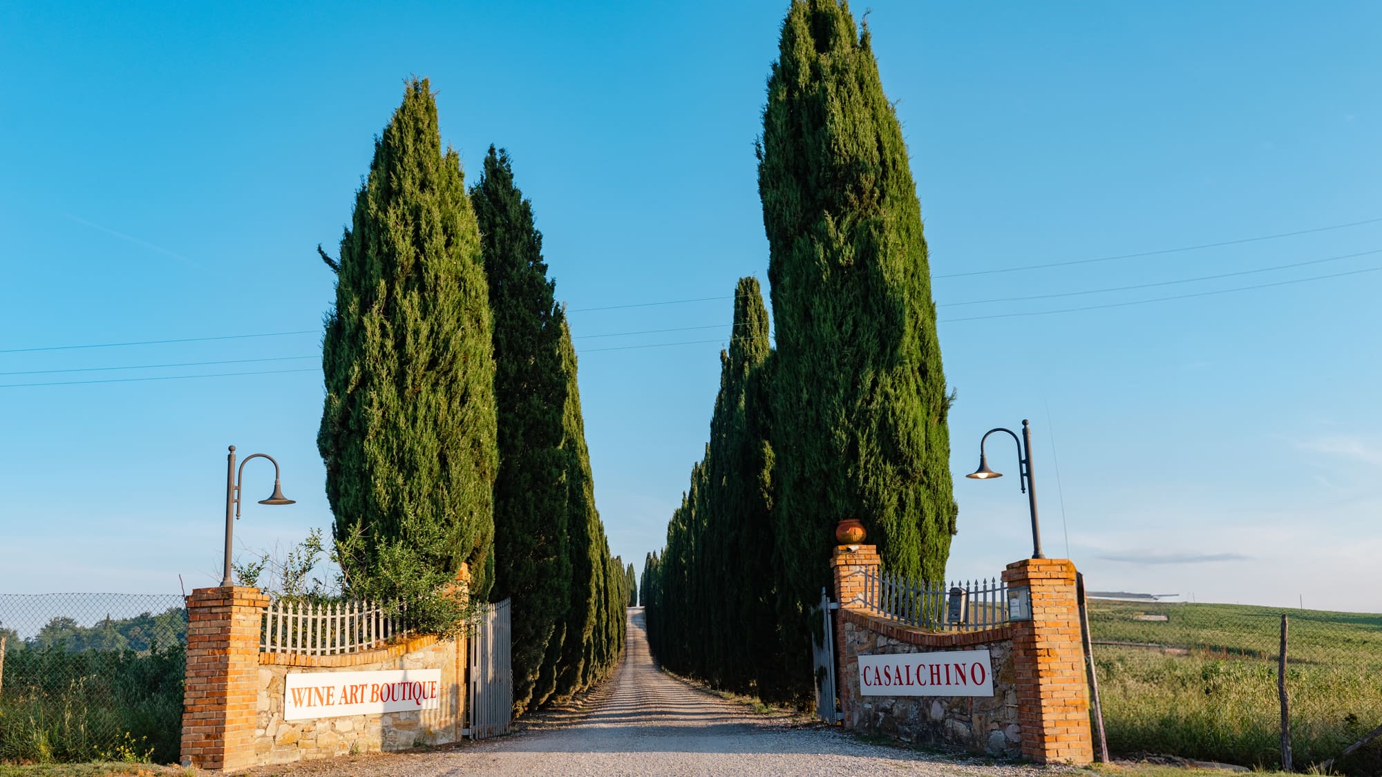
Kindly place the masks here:
<instances>
[{"instance_id":1,"label":"whole row of cypress trees along the driveway's right side","mask_svg":"<svg viewBox=\"0 0 1382 777\"><path fill-rule=\"evenodd\" d=\"M836 523L862 520L887 570L926 579L944 578L956 528L920 205L843 0L793 0L757 159L775 347L739 281L710 442L643 585L666 666L806 701Z\"/></svg>"}]
</instances>

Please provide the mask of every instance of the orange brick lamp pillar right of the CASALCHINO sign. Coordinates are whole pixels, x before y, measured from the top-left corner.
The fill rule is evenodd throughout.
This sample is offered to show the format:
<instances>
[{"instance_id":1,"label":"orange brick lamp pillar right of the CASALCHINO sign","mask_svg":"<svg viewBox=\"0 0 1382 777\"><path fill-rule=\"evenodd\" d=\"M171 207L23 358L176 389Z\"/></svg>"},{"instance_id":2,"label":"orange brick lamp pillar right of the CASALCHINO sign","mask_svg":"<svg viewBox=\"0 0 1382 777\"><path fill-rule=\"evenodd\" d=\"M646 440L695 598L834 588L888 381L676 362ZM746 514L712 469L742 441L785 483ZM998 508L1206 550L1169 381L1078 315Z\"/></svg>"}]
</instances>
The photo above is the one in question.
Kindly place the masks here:
<instances>
[{"instance_id":1,"label":"orange brick lamp pillar right of the CASALCHINO sign","mask_svg":"<svg viewBox=\"0 0 1382 777\"><path fill-rule=\"evenodd\" d=\"M1024 559L1007 565L1003 582L1009 589L1028 586L1032 603L1031 621L1012 624L1023 758L1090 763L1095 751L1075 565L1066 559Z\"/></svg>"}]
</instances>

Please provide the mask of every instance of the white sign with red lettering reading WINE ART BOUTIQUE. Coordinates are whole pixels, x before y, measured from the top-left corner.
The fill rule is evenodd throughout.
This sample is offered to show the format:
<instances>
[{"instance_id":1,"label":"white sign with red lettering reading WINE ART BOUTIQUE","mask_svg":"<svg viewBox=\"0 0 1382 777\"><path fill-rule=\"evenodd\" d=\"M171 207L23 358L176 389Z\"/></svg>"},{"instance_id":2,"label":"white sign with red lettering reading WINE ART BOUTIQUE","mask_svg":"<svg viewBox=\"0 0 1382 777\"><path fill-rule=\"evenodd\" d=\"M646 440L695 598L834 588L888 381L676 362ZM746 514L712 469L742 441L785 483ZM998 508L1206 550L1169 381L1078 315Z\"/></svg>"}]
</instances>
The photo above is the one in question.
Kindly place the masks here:
<instances>
[{"instance_id":1,"label":"white sign with red lettering reading WINE ART BOUTIQUE","mask_svg":"<svg viewBox=\"0 0 1382 777\"><path fill-rule=\"evenodd\" d=\"M283 720L437 709L441 694L441 669L293 672L283 680Z\"/></svg>"}]
</instances>

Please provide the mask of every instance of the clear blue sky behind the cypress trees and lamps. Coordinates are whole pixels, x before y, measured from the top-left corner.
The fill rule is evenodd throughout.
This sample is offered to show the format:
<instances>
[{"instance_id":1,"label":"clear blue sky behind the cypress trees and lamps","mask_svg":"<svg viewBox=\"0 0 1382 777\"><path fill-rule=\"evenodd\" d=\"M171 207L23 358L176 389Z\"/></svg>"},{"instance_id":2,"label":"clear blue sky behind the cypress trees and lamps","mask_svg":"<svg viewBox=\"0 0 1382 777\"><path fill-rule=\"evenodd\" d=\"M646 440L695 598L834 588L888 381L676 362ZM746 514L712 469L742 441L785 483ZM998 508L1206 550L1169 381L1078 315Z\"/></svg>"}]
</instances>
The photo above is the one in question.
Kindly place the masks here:
<instances>
[{"instance_id":1,"label":"clear blue sky behind the cypress trees and lamps","mask_svg":"<svg viewBox=\"0 0 1382 777\"><path fill-rule=\"evenodd\" d=\"M1009 477L960 476L1030 418L1046 552L1092 589L1376 611L1382 7L868 6L959 393L951 575L1028 553L1012 442L990 441ZM724 297L766 282L753 140L784 11L0 6L0 592L214 585L228 444L299 500L247 503L240 550L329 525L315 246L410 73L468 181L491 142L513 155L597 503L641 564L706 441ZM625 335L656 329L681 330ZM283 332L307 333L23 351ZM184 366L106 369L149 365ZM260 375L162 379L232 372ZM135 377L160 379L17 386Z\"/></svg>"}]
</instances>

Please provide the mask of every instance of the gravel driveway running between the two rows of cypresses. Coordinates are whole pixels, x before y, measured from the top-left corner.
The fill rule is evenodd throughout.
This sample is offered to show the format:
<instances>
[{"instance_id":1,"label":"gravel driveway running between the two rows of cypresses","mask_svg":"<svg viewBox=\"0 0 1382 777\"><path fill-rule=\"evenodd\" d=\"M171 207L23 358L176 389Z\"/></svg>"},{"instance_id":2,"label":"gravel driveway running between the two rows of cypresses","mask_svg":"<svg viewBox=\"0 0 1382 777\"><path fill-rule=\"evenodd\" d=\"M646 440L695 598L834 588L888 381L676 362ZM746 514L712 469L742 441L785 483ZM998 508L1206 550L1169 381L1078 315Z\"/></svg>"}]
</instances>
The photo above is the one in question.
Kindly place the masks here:
<instances>
[{"instance_id":1,"label":"gravel driveway running between the two rows of cypresses","mask_svg":"<svg viewBox=\"0 0 1382 777\"><path fill-rule=\"evenodd\" d=\"M860 741L839 729L759 715L659 672L643 611L629 611L629 642L615 677L583 705L533 716L518 733L424 753L339 758L252 774L373 777L952 774L1035 777L1070 767L991 765Z\"/></svg>"}]
</instances>

